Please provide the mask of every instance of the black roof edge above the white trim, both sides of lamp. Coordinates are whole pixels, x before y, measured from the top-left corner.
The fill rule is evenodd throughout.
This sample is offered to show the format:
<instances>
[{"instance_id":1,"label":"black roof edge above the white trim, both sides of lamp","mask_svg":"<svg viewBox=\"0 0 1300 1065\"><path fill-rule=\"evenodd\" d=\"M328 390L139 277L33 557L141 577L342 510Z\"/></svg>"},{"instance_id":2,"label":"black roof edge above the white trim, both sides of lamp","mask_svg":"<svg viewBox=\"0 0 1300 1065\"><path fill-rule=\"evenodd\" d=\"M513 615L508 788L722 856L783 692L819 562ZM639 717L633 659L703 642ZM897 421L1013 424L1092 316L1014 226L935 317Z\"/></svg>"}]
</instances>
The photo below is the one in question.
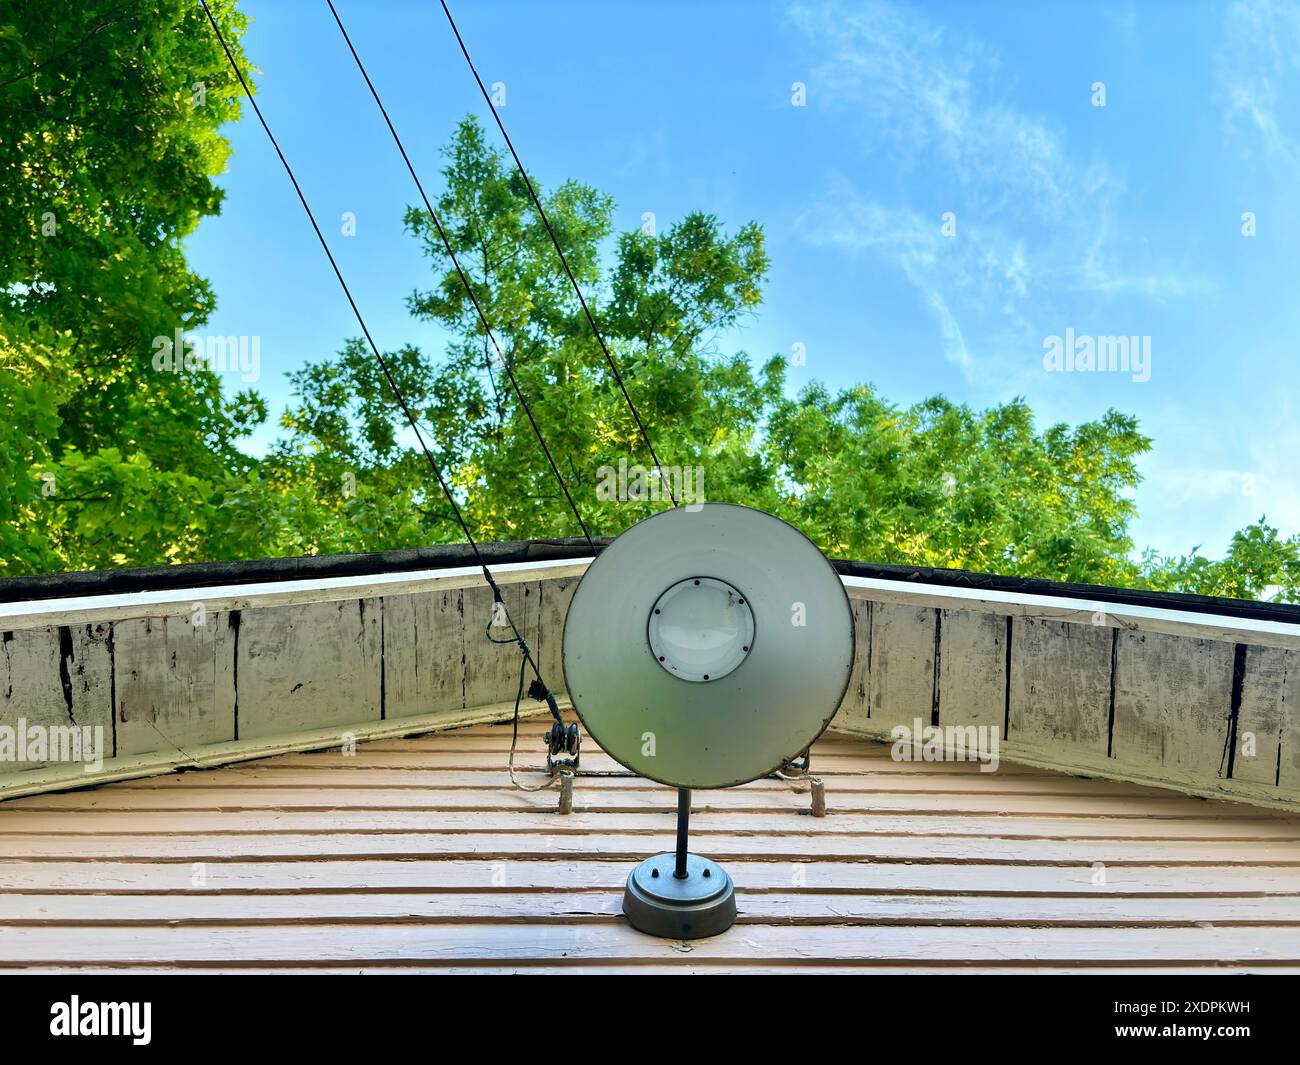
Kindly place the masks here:
<instances>
[{"instance_id":1,"label":"black roof edge above the white trim, both sides of lamp","mask_svg":"<svg viewBox=\"0 0 1300 1065\"><path fill-rule=\"evenodd\" d=\"M595 542L597 550L599 550L610 542L610 537L597 537ZM519 562L562 562L586 558L592 554L590 546L581 537L510 540L480 544L478 550L489 566L507 566ZM407 547L352 555L300 555L248 562L194 562L183 566L88 570L79 573L0 579L0 603L127 594L131 592L165 592L177 588L213 588L228 584L311 580L312 577L354 577L415 570L451 570L474 564L474 554L468 545L447 544L434 547ZM967 570L932 570L920 566L890 566L875 562L836 559L832 564L841 576L898 581L900 584L930 584L974 592L1048 596L1095 603L1184 610L1217 614L1225 618L1300 624L1300 605L1294 603L1265 603L1253 599L1192 596L1182 592L1148 592L1098 584L1069 584L1037 577L1005 577L996 573L972 573Z\"/></svg>"}]
</instances>

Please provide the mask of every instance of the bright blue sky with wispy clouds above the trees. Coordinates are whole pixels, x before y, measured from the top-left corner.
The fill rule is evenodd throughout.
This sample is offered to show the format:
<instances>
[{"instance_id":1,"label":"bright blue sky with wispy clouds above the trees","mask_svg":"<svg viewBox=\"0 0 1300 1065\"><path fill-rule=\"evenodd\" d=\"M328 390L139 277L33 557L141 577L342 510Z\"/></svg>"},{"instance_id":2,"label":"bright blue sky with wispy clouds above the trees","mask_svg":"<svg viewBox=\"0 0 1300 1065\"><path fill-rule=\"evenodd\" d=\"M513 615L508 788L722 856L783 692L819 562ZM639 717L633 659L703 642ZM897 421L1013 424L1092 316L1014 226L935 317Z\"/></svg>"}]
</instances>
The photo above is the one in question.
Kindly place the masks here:
<instances>
[{"instance_id":1,"label":"bright blue sky with wispy clouds above the trees","mask_svg":"<svg viewBox=\"0 0 1300 1065\"><path fill-rule=\"evenodd\" d=\"M432 191L456 121L490 125L441 8L335 3ZM242 8L260 105L376 339L437 352L437 329L404 307L429 281L400 224L416 192L329 9ZM763 224L764 304L723 350L763 362L802 343L793 386L867 381L902 404L1023 395L1041 425L1115 407L1154 437L1139 547L1219 555L1261 514L1300 532L1295 5L452 10L484 79L504 83L503 121L543 185L611 194L619 229L693 209ZM274 421L285 373L358 330L251 109L226 134L225 207L188 242L218 298L199 332L261 338L256 388ZM355 237L339 235L343 212ZM1149 337L1149 380L1046 372L1044 343L1067 330Z\"/></svg>"}]
</instances>

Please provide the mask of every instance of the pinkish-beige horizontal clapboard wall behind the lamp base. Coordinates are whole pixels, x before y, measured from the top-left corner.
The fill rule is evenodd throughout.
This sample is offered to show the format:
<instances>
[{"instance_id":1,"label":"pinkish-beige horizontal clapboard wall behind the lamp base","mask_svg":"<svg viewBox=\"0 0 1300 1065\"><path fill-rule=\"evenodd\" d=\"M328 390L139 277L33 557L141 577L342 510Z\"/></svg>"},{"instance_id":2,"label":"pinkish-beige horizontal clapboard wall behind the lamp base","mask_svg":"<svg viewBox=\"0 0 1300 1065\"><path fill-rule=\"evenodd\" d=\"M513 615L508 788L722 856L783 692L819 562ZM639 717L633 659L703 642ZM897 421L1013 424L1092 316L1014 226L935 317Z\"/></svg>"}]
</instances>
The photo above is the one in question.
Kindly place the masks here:
<instances>
[{"instance_id":1,"label":"pinkish-beige horizontal clapboard wall behind the lamp base","mask_svg":"<svg viewBox=\"0 0 1300 1065\"><path fill-rule=\"evenodd\" d=\"M541 761L545 720L521 727ZM697 792L736 926L627 926L673 839L640 778L556 791L476 726L0 804L0 966L32 971L1292 971L1300 817L827 733L806 782ZM584 763L607 767L589 740ZM541 778L525 771L529 782Z\"/></svg>"}]
</instances>

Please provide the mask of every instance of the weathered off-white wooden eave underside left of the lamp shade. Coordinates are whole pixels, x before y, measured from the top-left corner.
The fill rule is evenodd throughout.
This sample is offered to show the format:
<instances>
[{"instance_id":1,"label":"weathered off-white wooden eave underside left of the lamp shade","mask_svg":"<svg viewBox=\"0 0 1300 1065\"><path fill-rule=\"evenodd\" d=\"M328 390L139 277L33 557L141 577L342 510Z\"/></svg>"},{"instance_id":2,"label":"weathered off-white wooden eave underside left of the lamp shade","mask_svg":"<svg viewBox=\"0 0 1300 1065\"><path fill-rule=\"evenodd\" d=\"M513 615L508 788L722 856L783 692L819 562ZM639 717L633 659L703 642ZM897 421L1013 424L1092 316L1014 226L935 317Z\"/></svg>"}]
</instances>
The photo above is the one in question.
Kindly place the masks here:
<instances>
[{"instance_id":1,"label":"weathered off-white wooden eave underside left of the lamp shade","mask_svg":"<svg viewBox=\"0 0 1300 1065\"><path fill-rule=\"evenodd\" d=\"M576 568L556 566L545 581L526 568L497 575L559 694ZM543 585L554 585L545 601ZM239 598L230 589L194 589L192 602L177 593L146 616L127 597L116 618L91 605L68 614L101 620L5 631L0 726L99 726L105 761L92 776L79 763L0 762L0 795L308 750L389 733L389 722L419 731L508 713L519 654L484 636L491 593L481 575L391 586L396 594L361 597L322 588L316 601L302 590ZM524 713L538 709L525 702Z\"/></svg>"}]
</instances>

